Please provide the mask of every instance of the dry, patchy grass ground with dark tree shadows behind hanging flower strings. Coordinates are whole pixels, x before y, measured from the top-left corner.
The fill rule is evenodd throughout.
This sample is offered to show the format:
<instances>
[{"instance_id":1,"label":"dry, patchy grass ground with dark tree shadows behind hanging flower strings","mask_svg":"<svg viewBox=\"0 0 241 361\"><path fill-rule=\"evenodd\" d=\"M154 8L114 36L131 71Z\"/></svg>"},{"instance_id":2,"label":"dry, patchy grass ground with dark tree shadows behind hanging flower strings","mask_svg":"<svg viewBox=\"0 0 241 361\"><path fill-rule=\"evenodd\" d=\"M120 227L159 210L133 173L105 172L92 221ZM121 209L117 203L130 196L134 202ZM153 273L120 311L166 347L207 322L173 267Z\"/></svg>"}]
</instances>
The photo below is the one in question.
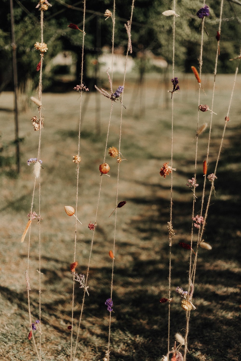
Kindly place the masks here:
<instances>
[{"instance_id":1,"label":"dry, patchy grass ground with dark tree shadows behind hanging flower strings","mask_svg":"<svg viewBox=\"0 0 241 361\"><path fill-rule=\"evenodd\" d=\"M170 77L171 79L171 77ZM202 79L207 99L211 94L212 76ZM173 167L173 238L171 340L183 333L185 312L180 308L175 288L187 284L188 254L178 242L188 242L191 226L192 192L185 186L193 176L198 91L193 74L179 77L181 92L175 95ZM217 96L213 117L208 174L214 170L219 139L224 125L231 75L217 77ZM171 81L170 81L171 84ZM225 87L224 87L225 84ZM116 87L119 83L115 84ZM238 255L240 254L240 106L238 78L229 118L221 162L217 173L215 197L209 211L205 240L212 250L200 249L194 299L197 309L191 314L188 360L239 360L238 288L240 286ZM115 86L113 86L115 88ZM114 275L114 311L111 325L111 360L160 360L167 351L167 304L160 304L168 292L168 230L170 180L160 178L159 168L169 161L171 149L171 109L164 106L164 89L154 81L146 83L145 111L139 115L138 98L131 84L126 84L123 103L126 106L122 129L121 153L128 159L121 163L119 200L126 205L117 209L116 263ZM171 86L170 86L171 90ZM34 94L33 94L34 95ZM72 278L69 265L73 261L73 217L64 205L75 203L75 165L77 152L78 93L43 94L45 126L42 133L43 160L41 217L42 220L42 322L43 360L69 360ZM4 143L13 139L12 93L2 93L0 109L1 136ZM100 96L99 94L97 96ZM82 120L81 170L77 234L78 273L86 273L100 182L99 165L103 161L105 132L110 101L101 99L101 134L96 134L95 93L90 97ZM100 96L101 97L101 96ZM101 97L102 98L102 97ZM85 100L84 99L84 102ZM157 104L157 105L156 105ZM207 103L208 104L208 103ZM120 104L114 104L108 147L117 146ZM5 174L1 182L1 305L0 355L2 360L35 360L27 339L29 318L25 270L27 241L20 243L30 209L33 176L27 159L36 157L38 132L31 117L35 108L20 114L22 171L13 179ZM201 124L209 122L210 114L200 115ZM99 121L99 119L97 119ZM202 184L202 162L206 154L207 131L199 138L198 179ZM5 155L13 155L9 147ZM78 360L102 360L108 339L108 312L104 305L109 297L115 217L117 164L107 158L111 167L102 182L96 237L90 264L89 292L83 314ZM5 171L8 169L5 168ZM200 193L197 192L199 200ZM37 198L37 196L36 196ZM197 200L196 206L201 204ZM36 200L37 202L37 200ZM37 212L37 209L34 210ZM38 318L38 227L32 222L30 285L32 313ZM75 324L78 323L83 291L76 288ZM234 331L234 328L236 331ZM74 328L74 331L76 328ZM38 341L38 336L36 336Z\"/></svg>"}]
</instances>

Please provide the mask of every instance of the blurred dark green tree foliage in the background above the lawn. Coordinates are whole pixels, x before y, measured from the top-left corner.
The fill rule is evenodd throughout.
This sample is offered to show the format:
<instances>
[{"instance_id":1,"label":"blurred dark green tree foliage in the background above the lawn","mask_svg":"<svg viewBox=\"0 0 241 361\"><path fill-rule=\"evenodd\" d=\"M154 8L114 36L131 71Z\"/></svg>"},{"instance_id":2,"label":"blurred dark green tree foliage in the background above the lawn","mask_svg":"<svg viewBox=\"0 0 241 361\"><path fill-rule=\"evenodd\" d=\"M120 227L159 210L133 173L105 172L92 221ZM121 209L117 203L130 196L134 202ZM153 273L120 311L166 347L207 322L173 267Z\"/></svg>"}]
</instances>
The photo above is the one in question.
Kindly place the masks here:
<instances>
[{"instance_id":1,"label":"blurred dark green tree foliage in the background above the lawn","mask_svg":"<svg viewBox=\"0 0 241 361\"><path fill-rule=\"evenodd\" d=\"M44 55L43 85L44 90L51 90L56 83L56 75L63 73L64 66L54 64L52 59L63 51L72 53L76 64L76 83L79 82L79 62L81 59L82 33L69 29L69 23L75 23L81 29L83 9L82 1L53 0L52 7L44 13L44 42L48 51ZM15 37L17 44L18 81L22 88L38 81L36 65L39 53L34 44L40 41L39 9L36 1L14 0ZM106 9L112 11L112 0L87 0L85 23L85 56L98 58L103 46L111 46L112 21L103 16ZM207 34L204 35L203 72L214 70L216 52L216 32L218 30L220 3L210 0L210 17L205 18ZM126 52L127 35L124 23L130 16L130 0L120 0L116 4L115 47ZM196 16L203 6L201 1L182 0L176 3L176 58L175 64L180 71L190 72L190 66L198 66L197 54L200 46L200 26L202 20ZM152 53L163 57L168 64L172 62L172 23L173 17L165 17L162 12L168 10L170 3L154 0L136 0L132 23L132 46L134 59L140 54ZM0 91L12 90L12 47L9 0L2 0L0 25ZM238 0L224 1L223 23L220 39L219 73L231 73L236 68L230 58L240 52L241 3ZM88 62L85 61L86 72ZM138 64L137 60L137 67ZM60 69L61 68L61 69ZM66 66L65 66L66 68ZM151 70L151 67L145 71ZM67 70L66 70L67 71ZM86 77L85 77L86 79ZM60 90L61 87L57 88Z\"/></svg>"}]
</instances>

